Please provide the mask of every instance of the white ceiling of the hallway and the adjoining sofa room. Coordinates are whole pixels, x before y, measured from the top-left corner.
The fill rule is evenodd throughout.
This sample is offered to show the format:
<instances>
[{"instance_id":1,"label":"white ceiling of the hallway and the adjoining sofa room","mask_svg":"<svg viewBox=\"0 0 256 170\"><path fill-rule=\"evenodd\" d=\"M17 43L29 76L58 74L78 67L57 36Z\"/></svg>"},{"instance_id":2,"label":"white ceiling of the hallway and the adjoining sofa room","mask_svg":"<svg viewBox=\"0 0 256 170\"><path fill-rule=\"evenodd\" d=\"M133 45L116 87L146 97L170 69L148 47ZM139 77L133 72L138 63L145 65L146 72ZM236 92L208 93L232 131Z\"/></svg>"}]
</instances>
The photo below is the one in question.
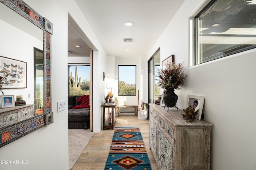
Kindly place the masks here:
<instances>
[{"instance_id":1,"label":"white ceiling of the hallway and the adjoining sofa room","mask_svg":"<svg viewBox=\"0 0 256 170\"><path fill-rule=\"evenodd\" d=\"M75 1L107 55L133 58L148 54L184 0ZM134 25L126 27L126 21ZM69 56L88 56L88 45L75 30L68 27L68 50L75 52ZM132 38L133 42L124 43L123 38ZM77 51L74 45L87 46L87 49Z\"/></svg>"}]
</instances>

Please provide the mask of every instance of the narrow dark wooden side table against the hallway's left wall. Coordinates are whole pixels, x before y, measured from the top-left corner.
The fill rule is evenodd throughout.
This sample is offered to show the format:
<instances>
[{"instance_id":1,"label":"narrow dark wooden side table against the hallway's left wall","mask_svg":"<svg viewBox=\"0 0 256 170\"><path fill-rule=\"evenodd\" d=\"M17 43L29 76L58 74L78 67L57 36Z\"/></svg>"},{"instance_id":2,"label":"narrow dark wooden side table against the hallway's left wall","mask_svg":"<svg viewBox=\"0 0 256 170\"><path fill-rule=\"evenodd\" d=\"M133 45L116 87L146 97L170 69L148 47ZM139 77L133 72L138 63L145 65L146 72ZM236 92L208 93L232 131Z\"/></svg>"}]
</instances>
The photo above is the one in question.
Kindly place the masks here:
<instances>
[{"instance_id":1,"label":"narrow dark wooden side table against the hallway's left wall","mask_svg":"<svg viewBox=\"0 0 256 170\"><path fill-rule=\"evenodd\" d=\"M105 130L106 128L112 128L112 130L114 130L114 124L116 122L116 111L115 111L115 107L116 104L115 103L108 103L108 104L102 104L101 105L103 107L103 130ZM112 113L112 123L108 123L108 117L110 116L110 113L108 113L108 117L105 117L105 108L112 108L112 111L110 113Z\"/></svg>"}]
</instances>

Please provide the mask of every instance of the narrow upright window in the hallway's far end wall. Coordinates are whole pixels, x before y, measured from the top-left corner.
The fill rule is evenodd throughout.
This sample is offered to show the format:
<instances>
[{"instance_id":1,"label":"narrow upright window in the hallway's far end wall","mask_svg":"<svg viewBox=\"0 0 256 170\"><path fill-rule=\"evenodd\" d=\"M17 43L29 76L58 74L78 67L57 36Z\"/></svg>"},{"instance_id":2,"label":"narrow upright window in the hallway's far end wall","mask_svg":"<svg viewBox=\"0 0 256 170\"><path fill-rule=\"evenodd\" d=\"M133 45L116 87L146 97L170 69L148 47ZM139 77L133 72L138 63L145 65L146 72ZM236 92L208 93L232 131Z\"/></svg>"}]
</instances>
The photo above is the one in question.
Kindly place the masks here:
<instances>
[{"instance_id":1,"label":"narrow upright window in the hallway's far end wall","mask_svg":"<svg viewBox=\"0 0 256 170\"><path fill-rule=\"evenodd\" d=\"M118 65L118 96L136 96L136 65Z\"/></svg>"}]
</instances>

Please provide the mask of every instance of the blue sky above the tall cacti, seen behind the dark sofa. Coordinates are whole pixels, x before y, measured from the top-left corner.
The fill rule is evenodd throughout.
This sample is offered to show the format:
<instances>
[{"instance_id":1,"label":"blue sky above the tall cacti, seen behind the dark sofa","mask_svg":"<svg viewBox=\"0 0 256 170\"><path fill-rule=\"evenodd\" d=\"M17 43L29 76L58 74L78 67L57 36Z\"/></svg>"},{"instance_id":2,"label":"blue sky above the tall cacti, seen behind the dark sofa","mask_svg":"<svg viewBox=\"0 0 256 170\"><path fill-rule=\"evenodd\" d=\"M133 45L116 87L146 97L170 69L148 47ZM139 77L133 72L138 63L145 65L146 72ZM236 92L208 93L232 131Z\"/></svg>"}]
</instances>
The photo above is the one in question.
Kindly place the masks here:
<instances>
[{"instance_id":1,"label":"blue sky above the tall cacti, seen behind the dark sofa","mask_svg":"<svg viewBox=\"0 0 256 170\"><path fill-rule=\"evenodd\" d=\"M69 73L72 71L72 76L75 77L76 72L76 66L70 66L69 67ZM77 75L78 75L78 81L79 77L81 77L81 82L83 80L88 79L90 81L90 66L77 66Z\"/></svg>"}]
</instances>

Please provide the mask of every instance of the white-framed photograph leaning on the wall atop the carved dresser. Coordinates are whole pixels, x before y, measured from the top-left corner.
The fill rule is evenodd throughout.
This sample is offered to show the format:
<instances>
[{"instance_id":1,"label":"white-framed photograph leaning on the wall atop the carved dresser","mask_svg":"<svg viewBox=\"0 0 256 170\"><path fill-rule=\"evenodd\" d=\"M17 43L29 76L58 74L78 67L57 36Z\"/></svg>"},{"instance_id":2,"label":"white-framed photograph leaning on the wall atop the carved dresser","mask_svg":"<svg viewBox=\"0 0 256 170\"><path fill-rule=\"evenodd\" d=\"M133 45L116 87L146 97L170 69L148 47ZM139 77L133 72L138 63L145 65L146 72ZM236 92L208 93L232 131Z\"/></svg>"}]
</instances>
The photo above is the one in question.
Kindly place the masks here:
<instances>
[{"instance_id":1,"label":"white-framed photograph leaning on the wall atop the carved dresser","mask_svg":"<svg viewBox=\"0 0 256 170\"><path fill-rule=\"evenodd\" d=\"M192 108L195 108L195 111L198 111L198 114L196 115L196 119L200 120L202 115L202 110L204 107L204 96L193 96L188 95L188 102L187 107L191 106Z\"/></svg>"}]
</instances>

